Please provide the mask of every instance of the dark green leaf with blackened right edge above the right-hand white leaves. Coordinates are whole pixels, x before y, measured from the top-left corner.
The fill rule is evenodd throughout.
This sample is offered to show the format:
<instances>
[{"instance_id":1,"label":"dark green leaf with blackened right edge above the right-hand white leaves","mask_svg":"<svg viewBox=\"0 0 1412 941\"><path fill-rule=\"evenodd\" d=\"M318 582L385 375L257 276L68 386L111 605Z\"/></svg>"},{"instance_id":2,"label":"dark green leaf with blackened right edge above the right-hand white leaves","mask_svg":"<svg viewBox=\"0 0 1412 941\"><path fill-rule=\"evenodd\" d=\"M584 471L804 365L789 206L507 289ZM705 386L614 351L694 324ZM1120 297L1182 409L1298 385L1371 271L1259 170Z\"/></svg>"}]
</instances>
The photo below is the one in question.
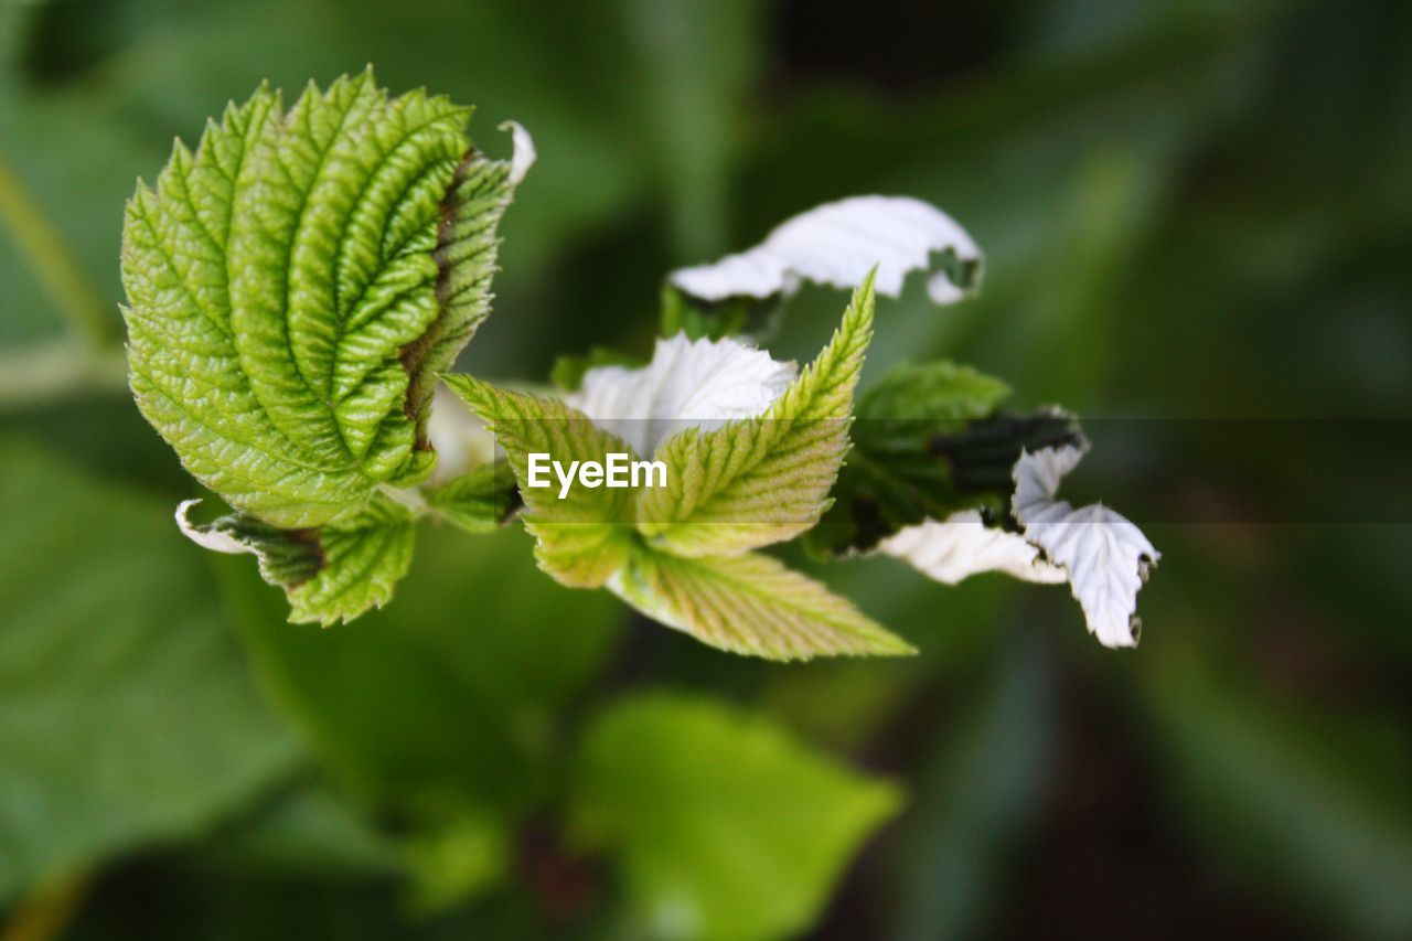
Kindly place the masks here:
<instances>
[{"instance_id":1,"label":"dark green leaf with blackened right edge above the right-hand white leaves","mask_svg":"<svg viewBox=\"0 0 1412 941\"><path fill-rule=\"evenodd\" d=\"M1058 410L1000 411L1010 389L949 362L892 369L858 398L833 506L805 537L820 555L868 551L898 530L957 510L1008 511L1022 449L1079 441Z\"/></svg>"}]
</instances>

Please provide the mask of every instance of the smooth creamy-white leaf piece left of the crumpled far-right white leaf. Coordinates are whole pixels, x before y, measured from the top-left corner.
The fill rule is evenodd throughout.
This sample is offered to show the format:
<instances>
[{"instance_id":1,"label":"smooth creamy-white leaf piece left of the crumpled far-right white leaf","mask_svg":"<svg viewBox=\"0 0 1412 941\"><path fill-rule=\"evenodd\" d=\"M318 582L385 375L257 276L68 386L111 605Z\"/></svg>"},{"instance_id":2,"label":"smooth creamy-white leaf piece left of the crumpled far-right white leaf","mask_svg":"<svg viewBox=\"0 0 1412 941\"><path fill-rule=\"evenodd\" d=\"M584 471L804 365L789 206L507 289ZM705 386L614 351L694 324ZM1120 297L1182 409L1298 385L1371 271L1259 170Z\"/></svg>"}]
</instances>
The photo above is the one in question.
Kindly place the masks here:
<instances>
[{"instance_id":1,"label":"smooth creamy-white leaf piece left of the crumpled far-right white leaf","mask_svg":"<svg viewBox=\"0 0 1412 941\"><path fill-rule=\"evenodd\" d=\"M1067 574L1051 565L1017 533L986 526L980 510L960 510L945 520L908 526L878 544L878 551L901 558L946 585L980 572L1005 572L1027 582L1063 582Z\"/></svg>"}]
</instances>

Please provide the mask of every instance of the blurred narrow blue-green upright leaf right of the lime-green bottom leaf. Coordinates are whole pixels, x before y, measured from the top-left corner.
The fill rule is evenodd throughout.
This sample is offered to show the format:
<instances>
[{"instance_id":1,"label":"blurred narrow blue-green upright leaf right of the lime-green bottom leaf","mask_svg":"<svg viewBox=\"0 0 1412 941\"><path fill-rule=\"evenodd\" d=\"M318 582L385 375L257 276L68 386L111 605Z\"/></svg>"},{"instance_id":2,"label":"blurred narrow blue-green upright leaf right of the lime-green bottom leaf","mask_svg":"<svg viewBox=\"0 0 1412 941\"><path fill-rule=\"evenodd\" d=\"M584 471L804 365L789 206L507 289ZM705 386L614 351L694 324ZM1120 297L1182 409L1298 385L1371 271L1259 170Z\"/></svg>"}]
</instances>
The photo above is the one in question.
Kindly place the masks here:
<instances>
[{"instance_id":1,"label":"blurred narrow blue-green upright leaf right of the lime-green bottom leaf","mask_svg":"<svg viewBox=\"0 0 1412 941\"><path fill-rule=\"evenodd\" d=\"M895 938L976 937L1004 865L1049 780L1053 702L1046 653L1007 649L959 722L936 735L915 808L901 821Z\"/></svg>"}]
</instances>

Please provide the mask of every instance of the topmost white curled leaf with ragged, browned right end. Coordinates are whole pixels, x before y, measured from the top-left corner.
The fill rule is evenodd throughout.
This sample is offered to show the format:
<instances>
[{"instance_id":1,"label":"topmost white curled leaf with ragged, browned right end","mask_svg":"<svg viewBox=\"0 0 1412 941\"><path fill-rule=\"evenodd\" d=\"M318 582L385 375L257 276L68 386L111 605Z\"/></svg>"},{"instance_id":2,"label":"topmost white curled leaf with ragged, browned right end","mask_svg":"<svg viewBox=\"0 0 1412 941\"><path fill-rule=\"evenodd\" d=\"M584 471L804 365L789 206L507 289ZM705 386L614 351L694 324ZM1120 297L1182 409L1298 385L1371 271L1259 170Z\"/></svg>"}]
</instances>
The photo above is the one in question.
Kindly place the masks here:
<instances>
[{"instance_id":1,"label":"topmost white curled leaf with ragged, browned right end","mask_svg":"<svg viewBox=\"0 0 1412 941\"><path fill-rule=\"evenodd\" d=\"M678 268L671 283L703 301L789 295L799 281L854 288L877 267L877 291L897 297L911 271L932 271L926 292L953 304L974 284L957 285L935 268L933 253L981 261L976 240L936 206L908 196L853 196L829 202L784 222L748 251L713 264Z\"/></svg>"}]
</instances>

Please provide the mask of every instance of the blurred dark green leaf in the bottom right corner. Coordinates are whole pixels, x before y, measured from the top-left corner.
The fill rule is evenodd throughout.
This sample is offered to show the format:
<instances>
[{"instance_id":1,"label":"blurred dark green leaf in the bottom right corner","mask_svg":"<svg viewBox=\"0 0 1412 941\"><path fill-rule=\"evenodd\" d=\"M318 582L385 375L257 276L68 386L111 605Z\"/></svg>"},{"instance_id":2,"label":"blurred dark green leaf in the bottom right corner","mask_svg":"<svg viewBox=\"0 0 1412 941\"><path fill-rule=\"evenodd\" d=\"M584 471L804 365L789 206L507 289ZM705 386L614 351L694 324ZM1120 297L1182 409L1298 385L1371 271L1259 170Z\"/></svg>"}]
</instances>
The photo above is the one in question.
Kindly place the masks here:
<instances>
[{"instance_id":1,"label":"blurred dark green leaf in the bottom right corner","mask_svg":"<svg viewBox=\"0 0 1412 941\"><path fill-rule=\"evenodd\" d=\"M1142 691L1192 839L1285 904L1371 938L1412 934L1412 743L1391 716L1276 701L1173 632ZM1224 674L1224 675L1223 675Z\"/></svg>"}]
</instances>

